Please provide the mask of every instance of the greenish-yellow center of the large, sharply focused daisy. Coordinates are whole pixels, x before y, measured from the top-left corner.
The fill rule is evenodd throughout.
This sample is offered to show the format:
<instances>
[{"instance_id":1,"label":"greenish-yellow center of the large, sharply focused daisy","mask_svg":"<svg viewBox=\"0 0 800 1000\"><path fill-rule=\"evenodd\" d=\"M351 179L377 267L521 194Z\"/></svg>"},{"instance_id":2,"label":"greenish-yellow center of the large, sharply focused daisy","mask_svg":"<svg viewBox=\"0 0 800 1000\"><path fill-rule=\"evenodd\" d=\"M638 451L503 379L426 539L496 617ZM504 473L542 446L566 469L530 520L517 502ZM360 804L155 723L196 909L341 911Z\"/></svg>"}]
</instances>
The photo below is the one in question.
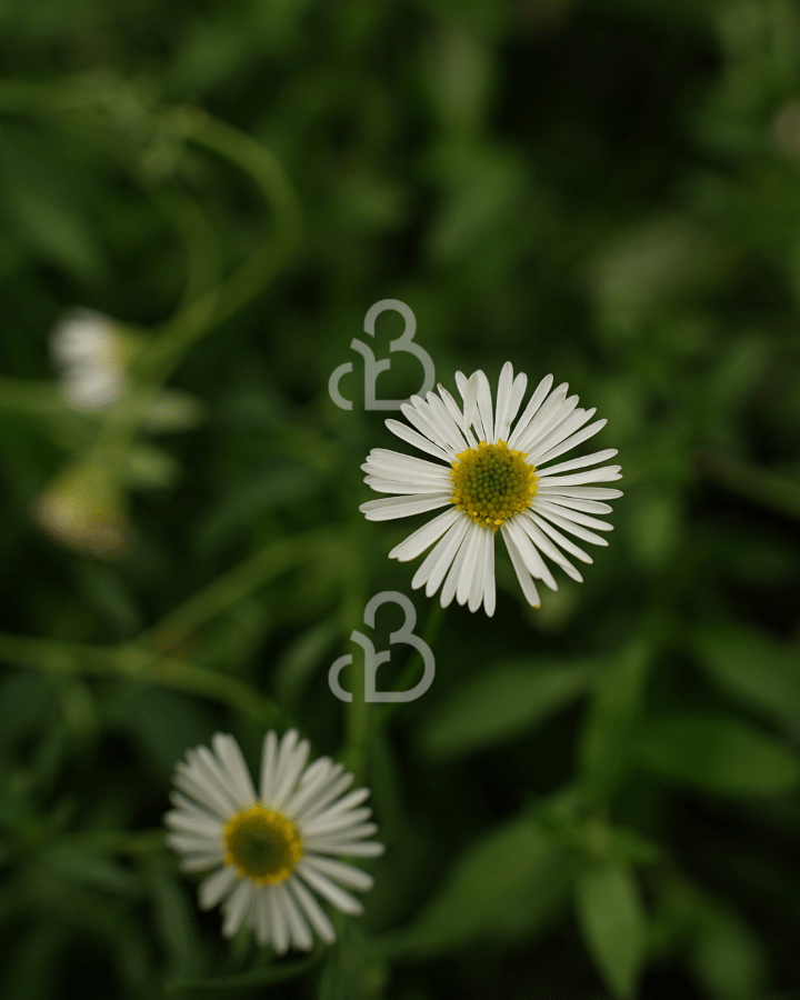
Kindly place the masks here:
<instances>
[{"instance_id":1,"label":"greenish-yellow center of the large, sharply focused daisy","mask_svg":"<svg viewBox=\"0 0 800 1000\"><path fill-rule=\"evenodd\" d=\"M526 462L527 457L527 452L514 451L504 441L481 441L477 448L468 448L450 470L451 501L476 524L497 531L536 497L539 479L534 467Z\"/></svg>"}]
</instances>

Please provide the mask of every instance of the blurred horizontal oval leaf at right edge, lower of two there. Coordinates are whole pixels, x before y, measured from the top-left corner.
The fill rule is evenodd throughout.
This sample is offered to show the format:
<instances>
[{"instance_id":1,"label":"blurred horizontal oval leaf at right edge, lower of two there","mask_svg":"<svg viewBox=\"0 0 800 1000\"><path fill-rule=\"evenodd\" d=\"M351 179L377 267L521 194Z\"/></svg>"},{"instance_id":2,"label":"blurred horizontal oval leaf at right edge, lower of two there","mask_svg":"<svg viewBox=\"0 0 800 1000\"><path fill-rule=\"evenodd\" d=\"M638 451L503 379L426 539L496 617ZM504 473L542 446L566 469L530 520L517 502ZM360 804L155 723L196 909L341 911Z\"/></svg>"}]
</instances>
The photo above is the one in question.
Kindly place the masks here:
<instances>
[{"instance_id":1,"label":"blurred horizontal oval leaf at right edge, lower of two there","mask_svg":"<svg viewBox=\"0 0 800 1000\"><path fill-rule=\"evenodd\" d=\"M718 716L653 722L639 740L638 756L662 778L721 794L779 794L800 781L800 763L779 742Z\"/></svg>"}]
</instances>

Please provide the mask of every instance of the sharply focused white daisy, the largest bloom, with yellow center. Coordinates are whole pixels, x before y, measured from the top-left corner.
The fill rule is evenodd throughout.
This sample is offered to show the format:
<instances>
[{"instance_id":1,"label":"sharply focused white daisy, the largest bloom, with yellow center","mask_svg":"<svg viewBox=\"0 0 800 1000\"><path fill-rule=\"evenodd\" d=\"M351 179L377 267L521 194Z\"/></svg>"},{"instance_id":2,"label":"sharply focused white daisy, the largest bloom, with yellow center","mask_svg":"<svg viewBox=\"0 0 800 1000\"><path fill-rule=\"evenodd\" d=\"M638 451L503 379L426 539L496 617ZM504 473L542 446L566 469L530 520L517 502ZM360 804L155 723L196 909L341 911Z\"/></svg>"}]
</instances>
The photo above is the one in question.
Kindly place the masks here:
<instances>
[{"instance_id":1,"label":"sharply focused white daisy, the largest bloom, with yellow center","mask_svg":"<svg viewBox=\"0 0 800 1000\"><path fill-rule=\"evenodd\" d=\"M612 458L617 449L544 468L606 424L606 420L597 420L584 427L596 410L579 408L577 396L568 398L566 382L556 389L552 383L551 374L541 380L512 429L528 377L514 378L511 362L507 361L493 410L486 374L476 371L467 379L462 372L456 372L462 407L440 384L439 396L429 392L424 400L412 396L401 407L412 427L398 420L386 421L392 433L437 462L373 448L361 466L367 472L364 482L373 490L398 494L362 503L359 510L370 521L448 508L389 553L390 558L407 562L437 542L411 586L424 584L428 597L441 587L443 608L456 597L459 604L469 602L470 611L483 604L487 614L494 613L498 530L522 592L534 608L539 607L534 579L551 590L558 589L542 556L579 582L583 578L564 552L582 562L592 561L562 532L597 546L608 544L596 531L610 531L612 526L590 514L610 513L611 507L603 501L621 497L622 492L588 483L620 479L621 467L576 470Z\"/></svg>"}]
</instances>

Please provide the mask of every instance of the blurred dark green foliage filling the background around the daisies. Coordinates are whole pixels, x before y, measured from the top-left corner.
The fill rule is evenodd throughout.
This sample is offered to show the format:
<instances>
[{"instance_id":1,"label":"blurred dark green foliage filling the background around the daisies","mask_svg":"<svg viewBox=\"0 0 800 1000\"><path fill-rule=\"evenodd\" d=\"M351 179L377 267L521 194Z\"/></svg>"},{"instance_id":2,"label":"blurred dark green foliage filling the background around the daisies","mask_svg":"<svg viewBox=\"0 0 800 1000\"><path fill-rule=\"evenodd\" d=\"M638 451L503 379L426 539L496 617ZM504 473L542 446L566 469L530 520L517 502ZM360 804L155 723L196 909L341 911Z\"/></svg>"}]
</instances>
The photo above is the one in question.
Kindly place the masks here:
<instances>
[{"instance_id":1,"label":"blurred dark green foliage filling the background around the daisies","mask_svg":"<svg viewBox=\"0 0 800 1000\"><path fill-rule=\"evenodd\" d=\"M800 997L797 6L40 0L0 28L0 992ZM496 617L432 617L433 688L370 711L327 672L410 590L409 524L358 512L393 444L350 341L384 298L451 390L568 380L626 496L583 584L532 611L500 557ZM138 344L106 410L49 358L76 306ZM419 377L397 356L379 391ZM388 849L364 917L278 961L221 940L161 816L187 747L254 764L290 722Z\"/></svg>"}]
</instances>

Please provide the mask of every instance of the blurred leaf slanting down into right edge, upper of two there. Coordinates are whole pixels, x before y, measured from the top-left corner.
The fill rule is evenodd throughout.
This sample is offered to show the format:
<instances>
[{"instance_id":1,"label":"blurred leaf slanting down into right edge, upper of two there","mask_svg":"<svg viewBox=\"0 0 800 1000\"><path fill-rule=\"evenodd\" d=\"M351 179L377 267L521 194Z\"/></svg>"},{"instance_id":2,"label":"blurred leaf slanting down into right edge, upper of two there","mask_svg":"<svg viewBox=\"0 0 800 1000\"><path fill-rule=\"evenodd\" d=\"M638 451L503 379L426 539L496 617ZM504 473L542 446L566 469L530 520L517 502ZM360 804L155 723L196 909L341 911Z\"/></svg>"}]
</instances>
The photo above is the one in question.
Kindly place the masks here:
<instances>
[{"instance_id":1,"label":"blurred leaf slanting down into right edge, upper of two there","mask_svg":"<svg viewBox=\"0 0 800 1000\"><path fill-rule=\"evenodd\" d=\"M793 651L733 624L697 631L691 648L721 688L800 734L800 661Z\"/></svg>"}]
</instances>

